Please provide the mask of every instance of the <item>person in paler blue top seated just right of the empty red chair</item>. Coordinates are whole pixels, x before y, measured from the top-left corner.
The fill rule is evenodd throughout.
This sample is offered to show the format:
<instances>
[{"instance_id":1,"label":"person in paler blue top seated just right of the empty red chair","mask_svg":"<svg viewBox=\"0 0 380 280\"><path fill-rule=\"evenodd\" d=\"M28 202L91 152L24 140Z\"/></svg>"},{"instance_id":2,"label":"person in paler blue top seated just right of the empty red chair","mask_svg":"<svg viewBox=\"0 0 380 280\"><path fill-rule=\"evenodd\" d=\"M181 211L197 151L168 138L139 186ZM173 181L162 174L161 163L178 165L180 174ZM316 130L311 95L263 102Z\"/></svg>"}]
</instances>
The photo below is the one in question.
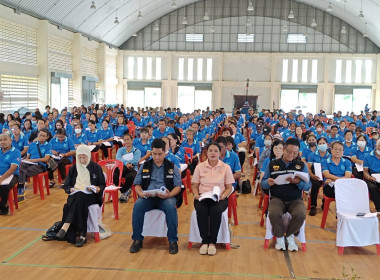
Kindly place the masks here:
<instances>
[{"instance_id":1,"label":"person in paler blue top seated just right of the empty red chair","mask_svg":"<svg viewBox=\"0 0 380 280\"><path fill-rule=\"evenodd\" d=\"M121 189L120 189L121 195L120 195L119 201L121 203L128 202L129 194L131 192L131 187L137 174L136 170L138 167L138 163L141 158L140 150L136 149L136 147L133 146L132 135L128 133L124 134L123 141L124 141L124 147L117 150L117 153L116 153L116 159L120 160L124 165L123 170L121 170L121 172L123 172L122 178L125 179L125 183L124 185L121 186ZM117 172L114 172L114 173L118 175ZM115 175L114 175L114 178L115 178ZM114 182L115 182L115 179L114 179Z\"/></svg>"}]
</instances>

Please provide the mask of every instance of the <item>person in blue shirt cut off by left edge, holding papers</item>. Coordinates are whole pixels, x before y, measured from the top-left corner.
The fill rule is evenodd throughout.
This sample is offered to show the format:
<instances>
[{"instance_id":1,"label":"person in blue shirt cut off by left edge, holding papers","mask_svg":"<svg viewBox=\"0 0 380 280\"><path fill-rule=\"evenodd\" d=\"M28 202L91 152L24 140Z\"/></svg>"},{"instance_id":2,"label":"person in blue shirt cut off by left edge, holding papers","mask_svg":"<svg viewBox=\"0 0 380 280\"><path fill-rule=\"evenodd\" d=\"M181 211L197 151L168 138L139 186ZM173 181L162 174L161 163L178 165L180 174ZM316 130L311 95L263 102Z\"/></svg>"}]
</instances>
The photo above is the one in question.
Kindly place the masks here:
<instances>
[{"instance_id":1,"label":"person in blue shirt cut off by left edge, holding papers","mask_svg":"<svg viewBox=\"0 0 380 280\"><path fill-rule=\"evenodd\" d=\"M8 195L18 182L20 161L21 153L12 147L10 133L0 134L0 215L9 212ZM13 177L7 182L11 176Z\"/></svg>"}]
</instances>

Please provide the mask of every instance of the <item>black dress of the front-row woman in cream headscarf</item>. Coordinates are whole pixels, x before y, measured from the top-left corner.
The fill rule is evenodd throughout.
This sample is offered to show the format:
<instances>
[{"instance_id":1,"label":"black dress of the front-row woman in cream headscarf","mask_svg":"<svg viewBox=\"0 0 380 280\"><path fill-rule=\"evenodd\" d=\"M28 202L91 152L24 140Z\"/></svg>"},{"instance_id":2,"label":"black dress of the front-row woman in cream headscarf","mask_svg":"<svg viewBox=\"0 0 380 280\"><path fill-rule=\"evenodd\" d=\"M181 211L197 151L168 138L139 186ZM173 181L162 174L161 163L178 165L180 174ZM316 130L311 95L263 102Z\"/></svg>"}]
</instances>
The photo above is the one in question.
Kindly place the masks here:
<instances>
[{"instance_id":1,"label":"black dress of the front-row woman in cream headscarf","mask_svg":"<svg viewBox=\"0 0 380 280\"><path fill-rule=\"evenodd\" d=\"M106 186L103 170L93 161L90 161L87 165L87 169L90 172L91 185L98 186L100 188L100 192L93 194L77 192L68 196L67 203L63 206L62 222L70 223L70 227L66 235L69 243L76 242L77 233L83 236L86 235L88 206L92 204L98 204L101 206L103 203L103 191ZM70 168L65 185L63 186L66 193L70 194L70 189L75 186L77 176L78 172L76 165L73 165Z\"/></svg>"}]
</instances>

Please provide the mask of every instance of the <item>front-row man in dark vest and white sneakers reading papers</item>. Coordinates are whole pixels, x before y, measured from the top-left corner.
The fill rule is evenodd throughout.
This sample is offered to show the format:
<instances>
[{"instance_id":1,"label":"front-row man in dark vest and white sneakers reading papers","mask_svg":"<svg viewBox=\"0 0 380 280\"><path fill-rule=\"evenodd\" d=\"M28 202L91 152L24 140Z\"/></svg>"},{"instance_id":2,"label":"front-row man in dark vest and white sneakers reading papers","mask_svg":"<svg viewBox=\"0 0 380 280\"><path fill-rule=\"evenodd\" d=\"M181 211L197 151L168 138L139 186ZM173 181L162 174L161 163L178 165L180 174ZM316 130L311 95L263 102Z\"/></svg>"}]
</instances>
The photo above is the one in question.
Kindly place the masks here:
<instances>
[{"instance_id":1,"label":"front-row man in dark vest and white sneakers reading papers","mask_svg":"<svg viewBox=\"0 0 380 280\"><path fill-rule=\"evenodd\" d=\"M306 164L298 159L300 144L297 139L289 138L284 147L284 154L281 158L272 160L261 181L261 187L269 189L269 220L272 224L273 234L276 236L277 250L286 250L284 239L284 227L282 224L282 215L289 212L292 219L289 222L286 231L286 240L289 251L298 251L298 246L294 241L294 235L297 235L302 227L306 209L302 200L302 191L310 189L309 180L302 181L299 177L294 179L288 178L287 184L277 185L275 179L280 175L293 174L294 172L308 173Z\"/></svg>"}]
</instances>

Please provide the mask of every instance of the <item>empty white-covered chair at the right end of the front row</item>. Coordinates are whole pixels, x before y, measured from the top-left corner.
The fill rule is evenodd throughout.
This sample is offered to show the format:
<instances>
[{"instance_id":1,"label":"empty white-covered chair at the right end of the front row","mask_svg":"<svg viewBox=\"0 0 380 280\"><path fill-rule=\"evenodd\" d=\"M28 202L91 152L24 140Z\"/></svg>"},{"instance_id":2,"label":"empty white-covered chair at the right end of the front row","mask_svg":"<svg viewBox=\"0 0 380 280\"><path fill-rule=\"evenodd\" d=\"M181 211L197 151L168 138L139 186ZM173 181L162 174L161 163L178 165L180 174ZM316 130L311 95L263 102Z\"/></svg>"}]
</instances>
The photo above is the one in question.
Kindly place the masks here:
<instances>
[{"instance_id":1,"label":"empty white-covered chair at the right end of the front row","mask_svg":"<svg viewBox=\"0 0 380 280\"><path fill-rule=\"evenodd\" d=\"M335 181L337 208L336 246L343 255L344 247L376 245L380 255L379 221L377 213L370 213L367 184L359 179L338 179ZM358 217L357 213L365 213Z\"/></svg>"}]
</instances>

